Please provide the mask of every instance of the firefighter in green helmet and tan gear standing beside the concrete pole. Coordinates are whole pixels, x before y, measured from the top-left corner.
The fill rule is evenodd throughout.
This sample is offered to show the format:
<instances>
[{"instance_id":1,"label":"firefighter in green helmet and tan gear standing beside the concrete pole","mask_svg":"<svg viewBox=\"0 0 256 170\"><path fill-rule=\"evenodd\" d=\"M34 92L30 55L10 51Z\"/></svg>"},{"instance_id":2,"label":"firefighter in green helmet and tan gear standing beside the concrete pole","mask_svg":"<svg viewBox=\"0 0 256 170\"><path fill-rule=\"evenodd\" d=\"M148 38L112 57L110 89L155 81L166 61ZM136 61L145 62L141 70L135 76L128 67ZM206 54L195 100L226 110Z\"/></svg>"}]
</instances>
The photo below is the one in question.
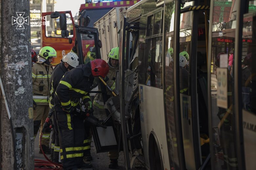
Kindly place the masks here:
<instances>
[{"instance_id":1,"label":"firefighter in green helmet and tan gear standing beside the concrete pole","mask_svg":"<svg viewBox=\"0 0 256 170\"><path fill-rule=\"evenodd\" d=\"M50 46L45 46L40 49L38 54L38 61L32 67L32 88L33 100L37 107L33 114L34 124L34 138L40 127L40 134L42 132L43 124L50 111L50 78L53 72L51 62L57 56L57 52ZM42 149L46 154L51 154L49 147L50 142L50 128L47 127L42 136ZM39 153L42 153L39 147Z\"/></svg>"}]
</instances>

